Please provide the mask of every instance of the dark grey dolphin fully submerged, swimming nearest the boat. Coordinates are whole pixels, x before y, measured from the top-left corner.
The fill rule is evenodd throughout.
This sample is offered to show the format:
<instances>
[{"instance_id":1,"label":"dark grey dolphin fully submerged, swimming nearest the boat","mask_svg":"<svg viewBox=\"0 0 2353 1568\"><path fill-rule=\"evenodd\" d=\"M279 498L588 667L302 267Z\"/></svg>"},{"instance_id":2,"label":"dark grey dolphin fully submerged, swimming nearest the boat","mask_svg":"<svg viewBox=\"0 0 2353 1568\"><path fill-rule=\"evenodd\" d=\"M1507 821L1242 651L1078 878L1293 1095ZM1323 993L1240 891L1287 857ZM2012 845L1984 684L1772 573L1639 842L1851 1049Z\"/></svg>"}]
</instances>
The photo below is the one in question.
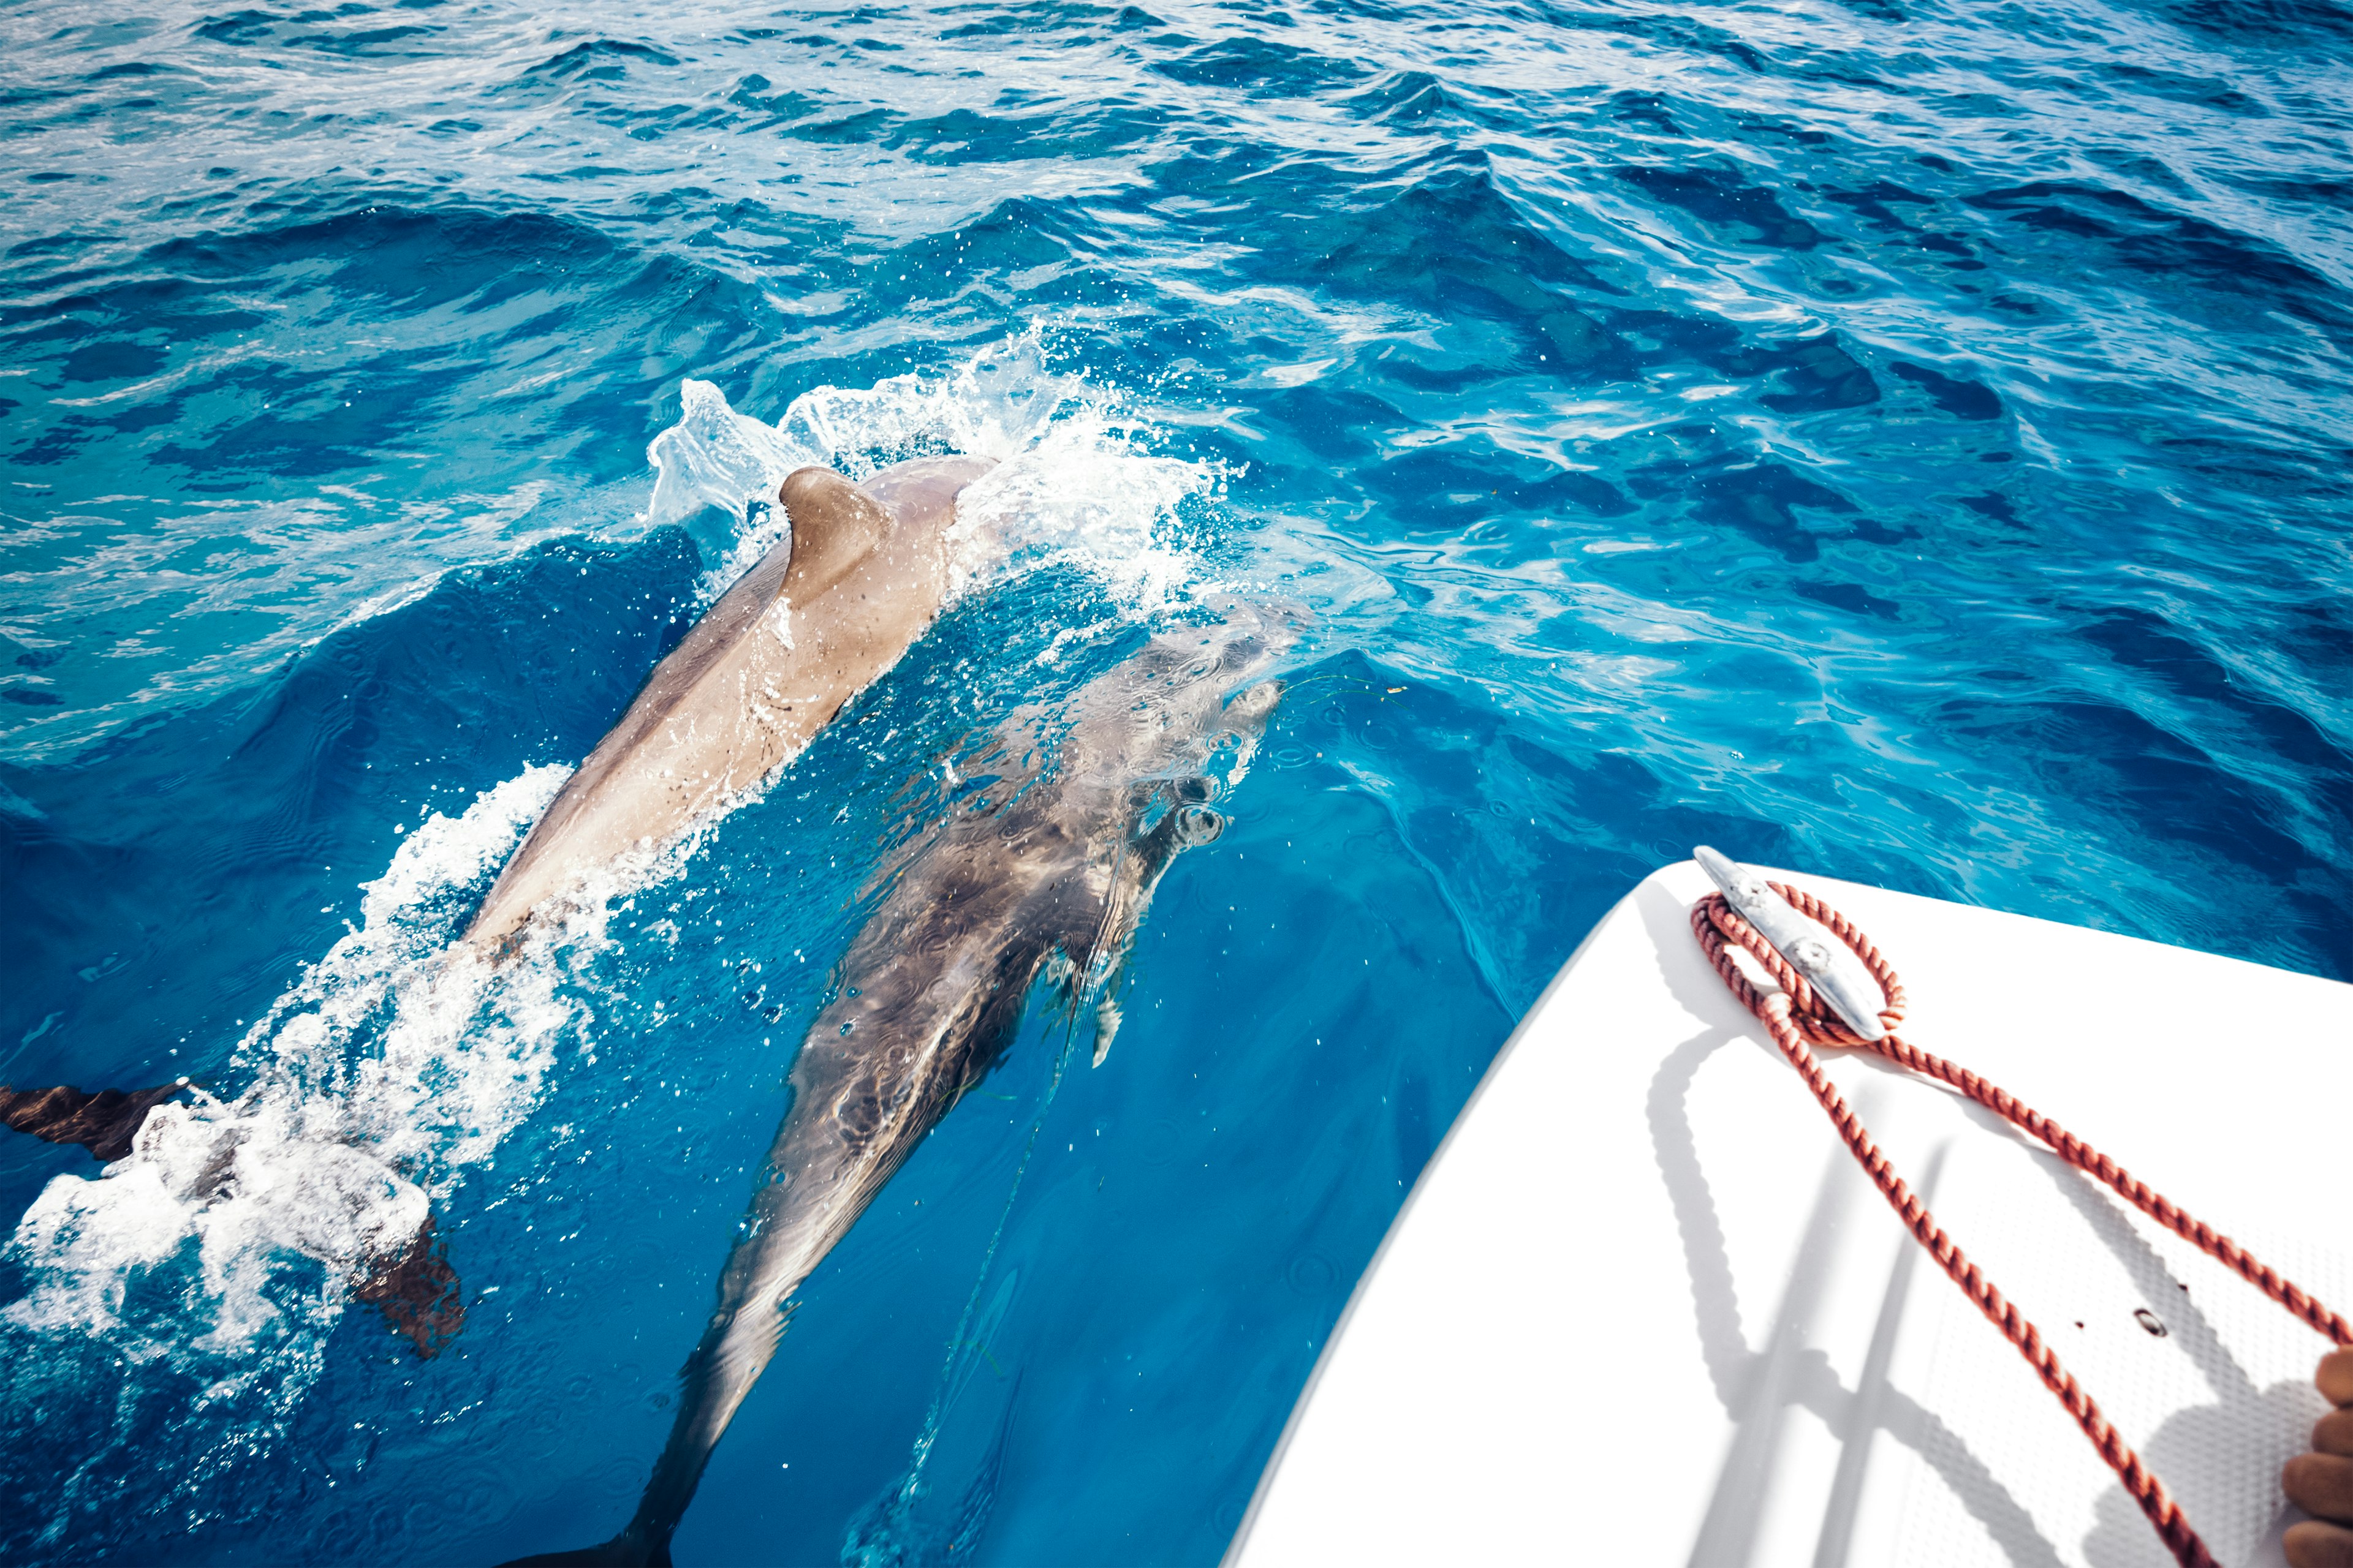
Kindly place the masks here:
<instances>
[{"instance_id":1,"label":"dark grey dolphin fully submerged, swimming nearest the boat","mask_svg":"<svg viewBox=\"0 0 2353 1568\"><path fill-rule=\"evenodd\" d=\"M602 1547L522 1563L671 1561L711 1450L776 1354L786 1300L995 1065L1040 973L1068 987L1073 1011L1094 1011L1101 1060L1115 971L1160 875L1224 830L1205 769L1231 757L1238 776L1282 691L1268 670L1297 639L1294 618L1226 611L1087 684L1049 757L1031 745L901 863L793 1063L791 1110L635 1516ZM1049 724L1019 715L1005 752Z\"/></svg>"}]
</instances>

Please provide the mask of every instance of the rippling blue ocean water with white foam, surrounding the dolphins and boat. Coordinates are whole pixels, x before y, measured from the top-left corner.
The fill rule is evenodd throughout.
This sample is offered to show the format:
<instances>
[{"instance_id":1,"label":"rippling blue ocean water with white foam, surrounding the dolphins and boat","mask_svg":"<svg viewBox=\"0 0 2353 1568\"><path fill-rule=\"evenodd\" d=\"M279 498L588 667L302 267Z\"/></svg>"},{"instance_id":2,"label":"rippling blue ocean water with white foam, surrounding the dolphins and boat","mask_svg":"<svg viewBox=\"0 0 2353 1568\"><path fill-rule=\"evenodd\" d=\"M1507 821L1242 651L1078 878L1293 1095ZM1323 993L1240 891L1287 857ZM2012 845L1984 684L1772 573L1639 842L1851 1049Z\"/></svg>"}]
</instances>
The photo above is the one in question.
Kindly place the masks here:
<instances>
[{"instance_id":1,"label":"rippling blue ocean water with white foam, surrounding the dolphins and boat","mask_svg":"<svg viewBox=\"0 0 2353 1568\"><path fill-rule=\"evenodd\" d=\"M0 1079L200 1088L106 1178L0 1140L12 1563L619 1528L925 780L1209 595L1311 630L1108 1060L1033 1004L680 1563L1217 1561L1478 1072L1694 842L2353 978L2337 0L0 40ZM1014 564L447 964L776 465L948 449ZM426 1208L435 1359L334 1267Z\"/></svg>"}]
</instances>

